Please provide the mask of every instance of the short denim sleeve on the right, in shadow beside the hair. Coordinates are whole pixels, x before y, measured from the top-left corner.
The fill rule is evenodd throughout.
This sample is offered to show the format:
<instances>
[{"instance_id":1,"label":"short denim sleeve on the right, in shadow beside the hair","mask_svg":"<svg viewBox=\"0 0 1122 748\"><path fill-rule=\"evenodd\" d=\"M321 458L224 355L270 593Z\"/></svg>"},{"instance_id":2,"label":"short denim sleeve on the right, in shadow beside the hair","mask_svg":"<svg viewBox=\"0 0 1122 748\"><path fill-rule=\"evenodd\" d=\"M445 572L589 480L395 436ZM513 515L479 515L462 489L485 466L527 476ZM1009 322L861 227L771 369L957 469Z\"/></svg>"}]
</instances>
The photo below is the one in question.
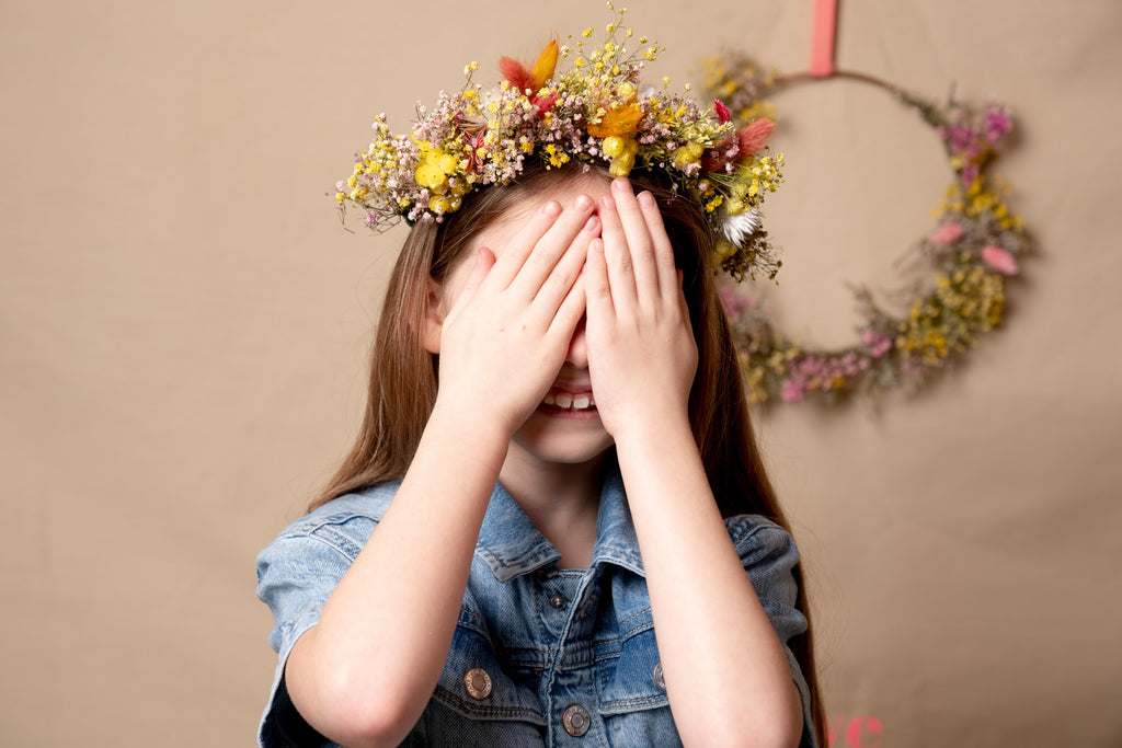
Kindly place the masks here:
<instances>
[{"instance_id":1,"label":"short denim sleeve on the right, in shadow beside the hair","mask_svg":"<svg viewBox=\"0 0 1122 748\"><path fill-rule=\"evenodd\" d=\"M762 517L737 517L729 520L729 535L741 563L748 573L760 603L771 620L775 635L783 644L791 677L802 696L802 741L800 748L817 748L813 739L813 719L810 715L810 689L802 676L802 668L791 653L789 641L807 630L807 619L794 607L799 585L793 569L799 563L799 548L785 529Z\"/></svg>"}]
</instances>

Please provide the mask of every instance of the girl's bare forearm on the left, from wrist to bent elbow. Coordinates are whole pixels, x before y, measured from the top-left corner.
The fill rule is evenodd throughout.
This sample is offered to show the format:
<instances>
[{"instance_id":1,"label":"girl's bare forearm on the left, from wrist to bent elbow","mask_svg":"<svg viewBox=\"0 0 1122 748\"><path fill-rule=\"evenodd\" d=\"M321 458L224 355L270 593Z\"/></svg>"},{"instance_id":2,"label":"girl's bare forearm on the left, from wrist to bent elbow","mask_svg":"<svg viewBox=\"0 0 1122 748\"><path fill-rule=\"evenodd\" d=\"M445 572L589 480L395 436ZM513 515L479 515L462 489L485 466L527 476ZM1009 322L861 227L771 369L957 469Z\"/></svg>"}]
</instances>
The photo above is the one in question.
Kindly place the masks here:
<instances>
[{"instance_id":1,"label":"girl's bare forearm on the left, from wrist to bent elbow","mask_svg":"<svg viewBox=\"0 0 1122 748\"><path fill-rule=\"evenodd\" d=\"M508 444L485 430L438 406L389 509L294 647L293 702L328 737L397 745L432 695Z\"/></svg>"}]
</instances>

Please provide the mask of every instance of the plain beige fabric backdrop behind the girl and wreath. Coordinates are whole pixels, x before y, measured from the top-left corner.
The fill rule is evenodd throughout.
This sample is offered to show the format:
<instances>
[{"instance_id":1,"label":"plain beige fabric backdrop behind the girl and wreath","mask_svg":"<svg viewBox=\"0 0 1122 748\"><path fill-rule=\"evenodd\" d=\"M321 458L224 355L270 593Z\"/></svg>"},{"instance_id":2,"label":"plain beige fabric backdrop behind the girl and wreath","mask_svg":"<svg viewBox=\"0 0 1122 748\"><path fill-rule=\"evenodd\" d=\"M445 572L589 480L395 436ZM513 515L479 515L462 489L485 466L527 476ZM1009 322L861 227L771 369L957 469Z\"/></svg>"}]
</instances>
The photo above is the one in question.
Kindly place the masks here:
<instances>
[{"instance_id":1,"label":"plain beige fabric backdrop behind the girl and wreath","mask_svg":"<svg viewBox=\"0 0 1122 748\"><path fill-rule=\"evenodd\" d=\"M806 67L810 6L629 20L681 82L721 43ZM402 238L343 231L323 195L378 112L404 127L466 63L489 81L605 22L599 0L0 2L0 744L252 745L254 556L353 433ZM844 0L839 34L845 67L1013 107L1001 172L1040 255L919 399L758 414L835 745L1122 745L1122 3ZM875 91L776 103L776 310L839 342L845 284L891 280L949 174Z\"/></svg>"}]
</instances>

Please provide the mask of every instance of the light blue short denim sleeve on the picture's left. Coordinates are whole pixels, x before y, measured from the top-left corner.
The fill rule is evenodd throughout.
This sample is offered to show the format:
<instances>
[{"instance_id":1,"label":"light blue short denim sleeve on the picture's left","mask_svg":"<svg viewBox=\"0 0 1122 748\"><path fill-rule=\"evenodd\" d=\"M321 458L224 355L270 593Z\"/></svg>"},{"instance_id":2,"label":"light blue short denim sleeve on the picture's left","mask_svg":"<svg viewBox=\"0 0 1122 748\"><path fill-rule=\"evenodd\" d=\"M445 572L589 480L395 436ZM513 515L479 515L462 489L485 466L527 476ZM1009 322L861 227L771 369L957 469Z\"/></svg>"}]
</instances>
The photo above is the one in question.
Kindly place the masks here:
<instances>
[{"instance_id":1,"label":"light blue short denim sleeve on the picture's left","mask_svg":"<svg viewBox=\"0 0 1122 748\"><path fill-rule=\"evenodd\" d=\"M258 554L257 597L273 612L269 646L278 655L258 730L260 746L332 745L293 708L284 667L300 636L320 621L324 603L376 526L377 519L370 516L318 511L289 525Z\"/></svg>"}]
</instances>

